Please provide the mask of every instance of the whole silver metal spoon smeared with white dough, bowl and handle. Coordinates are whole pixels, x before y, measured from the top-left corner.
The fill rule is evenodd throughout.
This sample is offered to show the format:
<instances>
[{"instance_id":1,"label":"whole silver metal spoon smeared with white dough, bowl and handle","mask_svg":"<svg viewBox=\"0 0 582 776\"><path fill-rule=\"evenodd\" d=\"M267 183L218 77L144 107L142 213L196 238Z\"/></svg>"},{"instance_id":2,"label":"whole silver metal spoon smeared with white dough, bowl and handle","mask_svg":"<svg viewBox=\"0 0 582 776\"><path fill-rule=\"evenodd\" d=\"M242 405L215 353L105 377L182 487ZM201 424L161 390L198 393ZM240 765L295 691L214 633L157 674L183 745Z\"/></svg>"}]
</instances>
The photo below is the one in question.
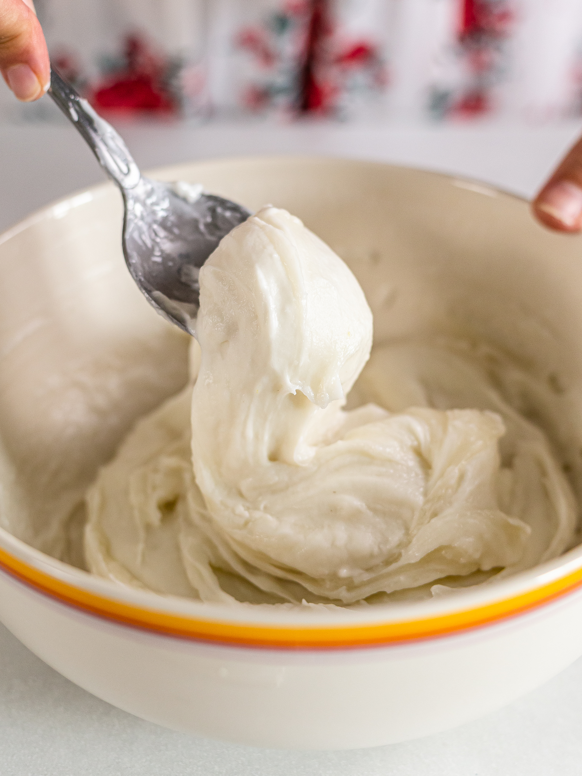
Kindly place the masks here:
<instances>
[{"instance_id":1,"label":"whole silver metal spoon smeared with white dough, bowl and handle","mask_svg":"<svg viewBox=\"0 0 582 776\"><path fill-rule=\"evenodd\" d=\"M113 126L54 70L48 94L120 187L123 255L137 286L158 313L196 334L200 267L251 213L200 187L144 178Z\"/></svg>"}]
</instances>

